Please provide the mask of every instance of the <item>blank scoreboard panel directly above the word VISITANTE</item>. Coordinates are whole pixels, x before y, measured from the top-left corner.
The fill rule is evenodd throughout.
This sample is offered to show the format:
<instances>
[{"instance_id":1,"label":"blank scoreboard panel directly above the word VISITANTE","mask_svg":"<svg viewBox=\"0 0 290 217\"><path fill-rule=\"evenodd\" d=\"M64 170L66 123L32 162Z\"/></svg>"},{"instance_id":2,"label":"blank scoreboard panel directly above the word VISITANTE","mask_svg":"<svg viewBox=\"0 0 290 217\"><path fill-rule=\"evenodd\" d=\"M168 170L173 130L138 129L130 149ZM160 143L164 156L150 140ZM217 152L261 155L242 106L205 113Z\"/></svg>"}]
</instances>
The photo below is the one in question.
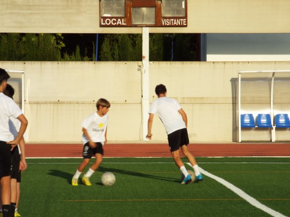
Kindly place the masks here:
<instances>
[{"instance_id":1,"label":"blank scoreboard panel directly above the word VISITANTE","mask_svg":"<svg viewBox=\"0 0 290 217\"><path fill-rule=\"evenodd\" d=\"M162 0L162 17L185 17L185 0Z\"/></svg>"}]
</instances>

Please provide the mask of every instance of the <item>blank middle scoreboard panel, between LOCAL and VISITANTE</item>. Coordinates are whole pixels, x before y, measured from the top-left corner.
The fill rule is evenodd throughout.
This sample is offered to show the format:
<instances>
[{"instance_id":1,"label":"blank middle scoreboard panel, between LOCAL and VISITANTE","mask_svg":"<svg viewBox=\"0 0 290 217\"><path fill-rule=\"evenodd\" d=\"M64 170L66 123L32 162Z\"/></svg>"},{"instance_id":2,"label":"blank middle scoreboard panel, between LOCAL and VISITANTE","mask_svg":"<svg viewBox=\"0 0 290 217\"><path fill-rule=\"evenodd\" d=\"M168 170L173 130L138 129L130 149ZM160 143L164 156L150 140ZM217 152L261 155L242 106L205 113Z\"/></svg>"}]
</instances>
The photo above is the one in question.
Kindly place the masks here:
<instances>
[{"instance_id":1,"label":"blank middle scoreboard panel, between LOCAL and VISITANTE","mask_svg":"<svg viewBox=\"0 0 290 217\"><path fill-rule=\"evenodd\" d=\"M133 25L155 25L155 7L132 8Z\"/></svg>"}]
</instances>

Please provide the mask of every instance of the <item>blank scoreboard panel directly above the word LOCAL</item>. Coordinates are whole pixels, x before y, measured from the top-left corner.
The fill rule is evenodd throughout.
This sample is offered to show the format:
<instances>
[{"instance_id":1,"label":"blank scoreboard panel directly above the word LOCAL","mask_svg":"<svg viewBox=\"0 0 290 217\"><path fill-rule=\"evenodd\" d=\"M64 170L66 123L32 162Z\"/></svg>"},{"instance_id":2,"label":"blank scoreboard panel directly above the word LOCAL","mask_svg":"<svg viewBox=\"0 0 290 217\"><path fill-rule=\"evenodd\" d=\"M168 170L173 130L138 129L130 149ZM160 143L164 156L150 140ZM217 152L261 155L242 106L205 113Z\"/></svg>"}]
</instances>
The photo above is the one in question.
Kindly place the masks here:
<instances>
[{"instance_id":1,"label":"blank scoreboard panel directly above the word LOCAL","mask_svg":"<svg viewBox=\"0 0 290 217\"><path fill-rule=\"evenodd\" d=\"M125 0L101 0L102 17L125 17Z\"/></svg>"}]
</instances>

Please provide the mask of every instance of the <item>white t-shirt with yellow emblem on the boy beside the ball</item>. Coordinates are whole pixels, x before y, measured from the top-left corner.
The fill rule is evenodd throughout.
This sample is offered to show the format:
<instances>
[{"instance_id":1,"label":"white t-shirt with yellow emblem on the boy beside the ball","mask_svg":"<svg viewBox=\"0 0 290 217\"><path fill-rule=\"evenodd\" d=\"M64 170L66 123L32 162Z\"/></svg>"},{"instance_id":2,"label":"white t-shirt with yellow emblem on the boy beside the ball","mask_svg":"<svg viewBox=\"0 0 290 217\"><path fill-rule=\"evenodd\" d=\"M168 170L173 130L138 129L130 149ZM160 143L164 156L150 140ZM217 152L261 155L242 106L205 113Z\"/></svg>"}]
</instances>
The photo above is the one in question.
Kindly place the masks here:
<instances>
[{"instance_id":1,"label":"white t-shirt with yellow emblem on the boy beside the ball","mask_svg":"<svg viewBox=\"0 0 290 217\"><path fill-rule=\"evenodd\" d=\"M94 112L89 117L87 117L81 123L81 126L85 128L94 143L104 143L105 142L105 132L108 126L108 115L100 117L97 112ZM87 137L82 135L82 142L86 144L89 142ZM104 144L103 144L104 145Z\"/></svg>"}]
</instances>

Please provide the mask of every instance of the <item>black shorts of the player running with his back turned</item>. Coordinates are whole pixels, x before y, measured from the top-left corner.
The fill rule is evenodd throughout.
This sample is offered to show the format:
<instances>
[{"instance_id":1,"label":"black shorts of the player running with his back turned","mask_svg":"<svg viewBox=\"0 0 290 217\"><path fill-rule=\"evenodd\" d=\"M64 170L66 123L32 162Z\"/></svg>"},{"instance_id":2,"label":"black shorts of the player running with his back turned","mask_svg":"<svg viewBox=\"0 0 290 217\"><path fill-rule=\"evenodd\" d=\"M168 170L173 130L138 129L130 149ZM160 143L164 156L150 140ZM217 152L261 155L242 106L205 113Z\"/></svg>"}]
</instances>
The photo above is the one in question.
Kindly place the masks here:
<instances>
[{"instance_id":1,"label":"black shorts of the player running with his back turned","mask_svg":"<svg viewBox=\"0 0 290 217\"><path fill-rule=\"evenodd\" d=\"M170 151L176 151L182 145L188 145L189 138L187 133L187 128L178 129L173 133L168 134L168 145Z\"/></svg>"}]
</instances>

